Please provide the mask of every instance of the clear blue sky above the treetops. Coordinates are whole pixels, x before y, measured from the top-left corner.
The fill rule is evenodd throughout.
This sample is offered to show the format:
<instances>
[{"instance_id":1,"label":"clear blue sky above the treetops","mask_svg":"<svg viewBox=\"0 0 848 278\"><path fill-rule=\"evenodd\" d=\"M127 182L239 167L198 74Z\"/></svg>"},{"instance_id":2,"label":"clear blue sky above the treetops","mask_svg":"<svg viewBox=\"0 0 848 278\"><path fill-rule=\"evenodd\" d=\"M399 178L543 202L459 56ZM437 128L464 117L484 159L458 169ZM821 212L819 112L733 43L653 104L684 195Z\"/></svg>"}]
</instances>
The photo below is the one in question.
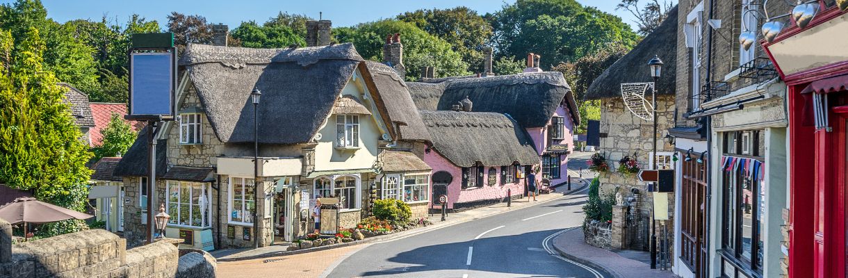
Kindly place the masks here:
<instances>
[{"instance_id":1,"label":"clear blue sky above the treetops","mask_svg":"<svg viewBox=\"0 0 848 278\"><path fill-rule=\"evenodd\" d=\"M634 25L631 14L624 10L616 11L619 0L577 2L616 14L622 17L625 23ZM0 3L14 3L14 0L0 0ZM515 3L515 0L42 0L42 3L47 8L47 16L58 22L70 19L100 20L105 15L109 21L124 25L131 14L140 14L148 20L159 21L160 26L165 26L167 14L176 11L182 14L203 15L210 23L230 25L232 30L242 21L256 20L263 23L280 11L306 14L315 19L319 17L319 12L322 12L323 19L332 20L333 26L350 26L391 18L419 8L453 8L462 5L476 10L479 14L494 13L505 3Z\"/></svg>"}]
</instances>

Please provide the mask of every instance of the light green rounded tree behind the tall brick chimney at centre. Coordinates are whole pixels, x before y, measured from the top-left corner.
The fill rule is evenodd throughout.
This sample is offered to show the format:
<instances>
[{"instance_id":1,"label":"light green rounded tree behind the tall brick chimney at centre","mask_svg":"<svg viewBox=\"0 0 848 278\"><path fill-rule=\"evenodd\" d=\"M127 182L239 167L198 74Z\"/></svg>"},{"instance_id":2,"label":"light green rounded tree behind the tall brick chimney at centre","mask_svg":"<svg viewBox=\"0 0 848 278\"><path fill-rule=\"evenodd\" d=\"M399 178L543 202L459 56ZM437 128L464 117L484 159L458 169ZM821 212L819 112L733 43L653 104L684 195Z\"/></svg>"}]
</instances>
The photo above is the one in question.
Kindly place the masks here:
<instances>
[{"instance_id":1,"label":"light green rounded tree behind the tall brick chimney at centre","mask_svg":"<svg viewBox=\"0 0 848 278\"><path fill-rule=\"evenodd\" d=\"M421 67L436 68L439 77L468 75L468 64L444 40L422 31L411 23L397 19L361 23L352 28L339 28L333 32L338 42L353 42L363 58L382 61L382 46L389 34L400 33L404 45L404 66L407 81L421 76Z\"/></svg>"}]
</instances>

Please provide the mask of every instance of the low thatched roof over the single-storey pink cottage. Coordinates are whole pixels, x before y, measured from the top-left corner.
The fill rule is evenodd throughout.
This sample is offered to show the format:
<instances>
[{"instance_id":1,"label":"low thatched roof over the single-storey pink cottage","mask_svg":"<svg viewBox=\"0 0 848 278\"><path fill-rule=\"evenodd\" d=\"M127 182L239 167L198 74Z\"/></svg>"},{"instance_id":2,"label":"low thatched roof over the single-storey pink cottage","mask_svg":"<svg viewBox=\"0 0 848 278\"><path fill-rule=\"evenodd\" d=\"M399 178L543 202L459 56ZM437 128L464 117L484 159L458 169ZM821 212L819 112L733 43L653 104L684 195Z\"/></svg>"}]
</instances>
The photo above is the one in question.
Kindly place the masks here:
<instances>
[{"instance_id":1,"label":"low thatched roof over the single-storey pink cottage","mask_svg":"<svg viewBox=\"0 0 848 278\"><path fill-rule=\"evenodd\" d=\"M421 111L432 136L432 148L453 164L538 164L533 139L505 114Z\"/></svg>"}]
</instances>

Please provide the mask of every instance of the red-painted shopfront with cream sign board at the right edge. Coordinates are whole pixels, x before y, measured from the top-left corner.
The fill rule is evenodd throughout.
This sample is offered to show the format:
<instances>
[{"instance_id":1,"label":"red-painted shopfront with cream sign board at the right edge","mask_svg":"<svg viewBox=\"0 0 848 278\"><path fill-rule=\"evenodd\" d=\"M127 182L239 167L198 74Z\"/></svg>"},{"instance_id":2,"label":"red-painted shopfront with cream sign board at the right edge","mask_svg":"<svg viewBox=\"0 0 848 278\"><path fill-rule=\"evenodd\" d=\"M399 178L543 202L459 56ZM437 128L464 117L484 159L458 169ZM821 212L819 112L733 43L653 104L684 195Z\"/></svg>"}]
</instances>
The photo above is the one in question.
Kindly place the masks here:
<instances>
[{"instance_id":1,"label":"red-painted shopfront with cream sign board at the right edge","mask_svg":"<svg viewBox=\"0 0 848 278\"><path fill-rule=\"evenodd\" d=\"M848 4L819 1L763 47L789 86L789 276L846 277Z\"/></svg>"}]
</instances>

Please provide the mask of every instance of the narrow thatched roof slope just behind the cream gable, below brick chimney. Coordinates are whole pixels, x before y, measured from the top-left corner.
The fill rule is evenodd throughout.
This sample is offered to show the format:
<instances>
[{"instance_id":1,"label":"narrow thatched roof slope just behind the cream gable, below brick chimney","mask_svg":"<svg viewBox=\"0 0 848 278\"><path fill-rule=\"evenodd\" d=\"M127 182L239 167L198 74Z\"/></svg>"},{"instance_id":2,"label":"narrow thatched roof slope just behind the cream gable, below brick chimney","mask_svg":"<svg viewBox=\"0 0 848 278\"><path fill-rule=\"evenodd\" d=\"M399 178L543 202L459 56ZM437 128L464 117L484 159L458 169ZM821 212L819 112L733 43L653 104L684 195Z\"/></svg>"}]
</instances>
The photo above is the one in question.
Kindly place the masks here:
<instances>
[{"instance_id":1,"label":"narrow thatched roof slope just behind the cream gable, below brick chimney","mask_svg":"<svg viewBox=\"0 0 848 278\"><path fill-rule=\"evenodd\" d=\"M363 75L366 75L365 78L371 78L371 83L374 84L369 90L377 93L377 97L384 104L388 120L399 133L395 136L399 140L432 141L403 78L385 64L365 61L365 66L368 74Z\"/></svg>"}]
</instances>

